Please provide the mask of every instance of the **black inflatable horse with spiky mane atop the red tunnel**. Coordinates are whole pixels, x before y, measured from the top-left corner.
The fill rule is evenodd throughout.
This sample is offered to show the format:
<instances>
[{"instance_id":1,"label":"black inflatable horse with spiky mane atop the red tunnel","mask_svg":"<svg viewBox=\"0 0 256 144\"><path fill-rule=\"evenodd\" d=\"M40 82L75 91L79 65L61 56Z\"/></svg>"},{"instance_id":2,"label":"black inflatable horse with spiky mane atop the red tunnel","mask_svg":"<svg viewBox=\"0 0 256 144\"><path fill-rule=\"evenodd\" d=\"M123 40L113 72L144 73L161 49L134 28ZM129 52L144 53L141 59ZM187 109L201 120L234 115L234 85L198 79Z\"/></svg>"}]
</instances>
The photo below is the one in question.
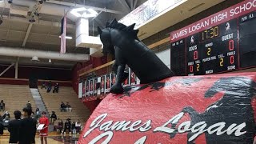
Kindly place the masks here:
<instances>
[{"instance_id":1,"label":"black inflatable horse with spiky mane atop the red tunnel","mask_svg":"<svg viewBox=\"0 0 256 144\"><path fill-rule=\"evenodd\" d=\"M126 65L137 75L141 83L150 83L173 76L173 72L145 46L138 37L135 24L125 26L116 19L106 22L106 28L98 27L103 43L104 54L113 54L115 58L112 70L117 74L110 93L122 94L122 82L127 78L124 70Z\"/></svg>"}]
</instances>

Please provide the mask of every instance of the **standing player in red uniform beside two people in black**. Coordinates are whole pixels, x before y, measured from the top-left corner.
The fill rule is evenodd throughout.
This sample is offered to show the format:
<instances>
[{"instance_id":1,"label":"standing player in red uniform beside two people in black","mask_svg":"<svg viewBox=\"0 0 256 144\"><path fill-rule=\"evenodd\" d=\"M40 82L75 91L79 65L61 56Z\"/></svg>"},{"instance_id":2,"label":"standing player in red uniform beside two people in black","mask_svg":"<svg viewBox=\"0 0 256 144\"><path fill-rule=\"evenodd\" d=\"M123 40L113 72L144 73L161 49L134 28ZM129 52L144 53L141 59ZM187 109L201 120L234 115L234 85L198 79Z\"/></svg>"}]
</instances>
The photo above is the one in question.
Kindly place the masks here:
<instances>
[{"instance_id":1,"label":"standing player in red uniform beside two people in black","mask_svg":"<svg viewBox=\"0 0 256 144\"><path fill-rule=\"evenodd\" d=\"M42 112L42 117L39 119L40 124L45 124L42 130L40 130L40 138L41 144L43 144L43 139L45 139L45 143L47 144L47 136L48 136L48 126L49 126L49 119L46 117L46 112Z\"/></svg>"}]
</instances>

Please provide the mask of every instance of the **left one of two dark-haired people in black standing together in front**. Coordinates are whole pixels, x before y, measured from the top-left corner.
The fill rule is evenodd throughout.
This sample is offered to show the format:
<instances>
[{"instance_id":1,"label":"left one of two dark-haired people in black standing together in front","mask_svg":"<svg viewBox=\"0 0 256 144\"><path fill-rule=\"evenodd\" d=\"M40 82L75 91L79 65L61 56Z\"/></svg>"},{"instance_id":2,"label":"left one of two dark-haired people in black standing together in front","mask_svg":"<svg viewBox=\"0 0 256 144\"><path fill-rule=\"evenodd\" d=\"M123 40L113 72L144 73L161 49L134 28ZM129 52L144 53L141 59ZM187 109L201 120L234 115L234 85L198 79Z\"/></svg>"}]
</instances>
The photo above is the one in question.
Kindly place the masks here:
<instances>
[{"instance_id":1,"label":"left one of two dark-haired people in black standing together in front","mask_svg":"<svg viewBox=\"0 0 256 144\"><path fill-rule=\"evenodd\" d=\"M19 110L14 111L14 120L11 120L8 125L8 131L10 132L9 143L17 143L19 137L19 126L22 113Z\"/></svg>"}]
</instances>

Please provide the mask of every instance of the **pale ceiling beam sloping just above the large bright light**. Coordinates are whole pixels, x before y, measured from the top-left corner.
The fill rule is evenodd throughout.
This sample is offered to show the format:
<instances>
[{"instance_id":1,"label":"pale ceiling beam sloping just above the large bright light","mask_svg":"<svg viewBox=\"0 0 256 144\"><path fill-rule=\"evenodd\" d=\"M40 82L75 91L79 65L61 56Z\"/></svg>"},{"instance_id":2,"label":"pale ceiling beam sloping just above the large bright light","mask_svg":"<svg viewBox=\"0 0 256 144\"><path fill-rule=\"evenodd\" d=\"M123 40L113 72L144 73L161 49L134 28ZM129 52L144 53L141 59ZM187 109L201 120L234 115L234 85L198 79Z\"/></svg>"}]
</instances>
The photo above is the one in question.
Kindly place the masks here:
<instances>
[{"instance_id":1,"label":"pale ceiling beam sloping just above the large bright light","mask_svg":"<svg viewBox=\"0 0 256 144\"><path fill-rule=\"evenodd\" d=\"M94 9L94 10L104 11L106 13L123 14L122 11L118 11L118 10L110 10L110 9L94 7L94 6L85 6L85 5L79 5L79 4L70 3L70 2L61 2L61 1L55 1L55 0L49 0L49 1L46 1L46 2L57 4L57 5L62 5L62 6L85 7L87 9L91 8L91 9Z\"/></svg>"}]
</instances>

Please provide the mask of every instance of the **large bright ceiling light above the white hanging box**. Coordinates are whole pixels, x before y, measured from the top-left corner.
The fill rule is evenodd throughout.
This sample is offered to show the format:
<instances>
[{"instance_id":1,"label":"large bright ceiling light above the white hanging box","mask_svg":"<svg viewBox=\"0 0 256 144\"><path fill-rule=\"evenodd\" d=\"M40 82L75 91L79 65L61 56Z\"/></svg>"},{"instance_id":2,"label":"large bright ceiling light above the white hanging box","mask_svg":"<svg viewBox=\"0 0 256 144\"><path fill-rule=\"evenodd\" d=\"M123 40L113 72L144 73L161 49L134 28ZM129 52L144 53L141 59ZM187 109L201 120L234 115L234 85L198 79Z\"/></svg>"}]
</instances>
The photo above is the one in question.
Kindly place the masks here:
<instances>
[{"instance_id":1,"label":"large bright ceiling light above the white hanging box","mask_svg":"<svg viewBox=\"0 0 256 144\"><path fill-rule=\"evenodd\" d=\"M98 15L97 11L93 9L86 9L85 7L75 8L70 11L70 14L73 14L78 18L93 18Z\"/></svg>"}]
</instances>

